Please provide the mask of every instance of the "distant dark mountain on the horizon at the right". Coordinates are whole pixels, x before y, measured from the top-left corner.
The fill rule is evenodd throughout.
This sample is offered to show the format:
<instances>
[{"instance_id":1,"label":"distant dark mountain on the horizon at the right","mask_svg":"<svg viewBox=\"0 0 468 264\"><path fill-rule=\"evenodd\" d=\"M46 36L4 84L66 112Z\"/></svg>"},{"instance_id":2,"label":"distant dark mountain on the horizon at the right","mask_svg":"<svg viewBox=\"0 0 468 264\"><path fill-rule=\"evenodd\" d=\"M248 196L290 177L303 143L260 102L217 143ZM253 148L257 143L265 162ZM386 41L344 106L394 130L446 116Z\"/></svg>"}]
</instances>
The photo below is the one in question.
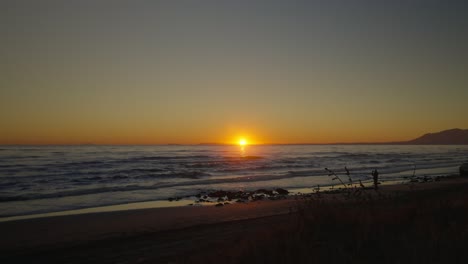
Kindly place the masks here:
<instances>
[{"instance_id":1,"label":"distant dark mountain on the horizon at the right","mask_svg":"<svg viewBox=\"0 0 468 264\"><path fill-rule=\"evenodd\" d=\"M468 129L449 129L405 142L415 145L468 145Z\"/></svg>"}]
</instances>

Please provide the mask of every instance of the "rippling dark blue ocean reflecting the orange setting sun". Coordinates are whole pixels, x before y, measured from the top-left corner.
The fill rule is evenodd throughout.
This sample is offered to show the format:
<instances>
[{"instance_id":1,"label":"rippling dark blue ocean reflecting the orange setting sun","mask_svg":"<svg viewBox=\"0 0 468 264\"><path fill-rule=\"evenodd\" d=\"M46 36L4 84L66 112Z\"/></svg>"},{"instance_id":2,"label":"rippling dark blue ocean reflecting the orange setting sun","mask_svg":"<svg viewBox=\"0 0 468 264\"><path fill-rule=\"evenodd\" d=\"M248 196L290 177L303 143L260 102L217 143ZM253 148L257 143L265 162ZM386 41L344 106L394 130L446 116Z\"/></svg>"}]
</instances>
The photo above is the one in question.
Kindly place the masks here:
<instances>
[{"instance_id":1,"label":"rippling dark blue ocean reflecting the orange setting sun","mask_svg":"<svg viewBox=\"0 0 468 264\"><path fill-rule=\"evenodd\" d=\"M407 182L464 162L468 146L0 146L0 220L203 191L312 191L339 184L325 168L347 181L345 166L355 182L371 182L374 169L383 183Z\"/></svg>"}]
</instances>

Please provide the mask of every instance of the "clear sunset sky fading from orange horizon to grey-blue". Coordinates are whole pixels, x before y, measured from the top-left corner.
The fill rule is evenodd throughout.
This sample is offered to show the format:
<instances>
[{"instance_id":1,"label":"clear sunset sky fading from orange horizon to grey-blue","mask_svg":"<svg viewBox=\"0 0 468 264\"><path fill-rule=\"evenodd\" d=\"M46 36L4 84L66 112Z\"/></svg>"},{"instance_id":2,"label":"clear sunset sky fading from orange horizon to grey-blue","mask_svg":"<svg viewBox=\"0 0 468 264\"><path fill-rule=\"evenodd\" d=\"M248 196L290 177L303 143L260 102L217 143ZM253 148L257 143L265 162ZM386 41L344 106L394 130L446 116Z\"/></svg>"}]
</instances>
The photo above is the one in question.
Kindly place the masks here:
<instances>
[{"instance_id":1,"label":"clear sunset sky fading from orange horizon to grey-blue","mask_svg":"<svg viewBox=\"0 0 468 264\"><path fill-rule=\"evenodd\" d=\"M467 13L447 0L2 1L0 144L468 128Z\"/></svg>"}]
</instances>

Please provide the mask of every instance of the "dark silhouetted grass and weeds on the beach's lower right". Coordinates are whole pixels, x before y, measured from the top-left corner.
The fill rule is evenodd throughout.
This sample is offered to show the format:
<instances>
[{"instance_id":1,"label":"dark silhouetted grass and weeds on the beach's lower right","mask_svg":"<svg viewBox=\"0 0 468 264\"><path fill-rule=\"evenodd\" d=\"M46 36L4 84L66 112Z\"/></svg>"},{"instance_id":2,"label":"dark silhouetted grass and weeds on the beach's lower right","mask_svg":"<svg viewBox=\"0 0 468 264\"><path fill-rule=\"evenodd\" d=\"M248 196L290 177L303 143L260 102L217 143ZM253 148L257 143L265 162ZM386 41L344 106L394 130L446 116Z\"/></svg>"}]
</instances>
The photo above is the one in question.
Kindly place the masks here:
<instances>
[{"instance_id":1,"label":"dark silhouetted grass and weeds on the beach's lower right","mask_svg":"<svg viewBox=\"0 0 468 264\"><path fill-rule=\"evenodd\" d=\"M347 192L343 192L347 193ZM249 241L233 262L466 263L468 193L353 192L298 203L285 226Z\"/></svg>"}]
</instances>

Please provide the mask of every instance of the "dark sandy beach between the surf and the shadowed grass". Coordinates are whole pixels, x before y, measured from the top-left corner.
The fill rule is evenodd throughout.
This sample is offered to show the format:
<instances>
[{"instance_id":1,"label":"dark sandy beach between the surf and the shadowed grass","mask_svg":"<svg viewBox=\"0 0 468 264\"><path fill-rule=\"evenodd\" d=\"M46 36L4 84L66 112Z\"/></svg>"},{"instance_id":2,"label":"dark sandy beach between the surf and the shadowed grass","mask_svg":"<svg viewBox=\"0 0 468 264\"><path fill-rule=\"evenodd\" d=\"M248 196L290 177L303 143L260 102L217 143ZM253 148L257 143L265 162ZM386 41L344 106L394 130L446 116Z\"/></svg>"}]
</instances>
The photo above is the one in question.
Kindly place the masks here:
<instances>
[{"instance_id":1,"label":"dark sandy beach between the surf and the shadowed grass","mask_svg":"<svg viewBox=\"0 0 468 264\"><path fill-rule=\"evenodd\" d=\"M310 218L307 215L325 215L320 213L323 207L317 207L317 202L325 207L336 204L348 209L370 204L375 208L388 207L391 210L387 214L391 216L392 210L400 211L400 205L388 206L394 200L398 201L395 204L401 203L401 208L433 200L450 205L453 201L466 207L466 190L467 178L447 177L426 183L381 186L379 191L365 188L361 191L368 195L367 200L358 199L355 194L350 197L351 192L335 191L222 207L153 208L9 221L0 223L1 259L2 263L211 263L232 255L230 263L235 263L252 254L252 248L261 252L272 241L281 242L285 237L288 240L289 236L309 232L301 227ZM347 210L342 213L344 218L349 214ZM466 220L463 215L460 217ZM394 217L398 218L398 214ZM385 223L391 223L390 218ZM464 225L460 226L464 232L468 230L463 229L468 228L467 222L460 225ZM433 228L436 227L428 231L435 232ZM330 236L335 234L332 229L328 230Z\"/></svg>"}]
</instances>

